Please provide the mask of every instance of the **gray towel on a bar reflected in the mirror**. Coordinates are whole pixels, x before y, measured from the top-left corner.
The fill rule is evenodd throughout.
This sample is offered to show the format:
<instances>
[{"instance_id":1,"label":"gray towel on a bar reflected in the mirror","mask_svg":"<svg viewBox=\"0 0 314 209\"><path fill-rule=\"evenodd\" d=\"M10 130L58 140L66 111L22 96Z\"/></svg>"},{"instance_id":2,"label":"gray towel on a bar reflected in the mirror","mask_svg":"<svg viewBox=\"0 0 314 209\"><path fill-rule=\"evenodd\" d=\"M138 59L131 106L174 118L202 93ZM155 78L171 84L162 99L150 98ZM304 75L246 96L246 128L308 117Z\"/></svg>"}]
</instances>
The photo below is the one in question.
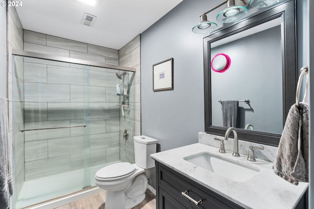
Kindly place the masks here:
<instances>
[{"instance_id":1,"label":"gray towel on a bar reflected in the mirror","mask_svg":"<svg viewBox=\"0 0 314 209\"><path fill-rule=\"evenodd\" d=\"M221 101L222 126L237 128L237 100Z\"/></svg>"}]
</instances>

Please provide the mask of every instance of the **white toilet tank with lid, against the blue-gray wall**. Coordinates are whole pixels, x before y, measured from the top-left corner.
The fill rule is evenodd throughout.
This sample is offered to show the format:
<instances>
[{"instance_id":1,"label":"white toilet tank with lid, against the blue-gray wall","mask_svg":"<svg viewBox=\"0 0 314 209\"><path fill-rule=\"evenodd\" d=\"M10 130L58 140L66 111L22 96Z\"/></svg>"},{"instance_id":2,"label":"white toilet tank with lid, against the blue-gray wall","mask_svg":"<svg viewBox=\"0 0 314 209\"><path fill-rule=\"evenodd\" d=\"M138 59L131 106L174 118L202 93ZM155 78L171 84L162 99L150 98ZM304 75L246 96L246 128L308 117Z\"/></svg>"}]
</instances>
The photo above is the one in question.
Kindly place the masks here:
<instances>
[{"instance_id":1,"label":"white toilet tank with lid, against the blue-gray wall","mask_svg":"<svg viewBox=\"0 0 314 209\"><path fill-rule=\"evenodd\" d=\"M150 157L156 153L157 139L140 135L134 136L135 163L144 169L155 167L155 160Z\"/></svg>"}]
</instances>

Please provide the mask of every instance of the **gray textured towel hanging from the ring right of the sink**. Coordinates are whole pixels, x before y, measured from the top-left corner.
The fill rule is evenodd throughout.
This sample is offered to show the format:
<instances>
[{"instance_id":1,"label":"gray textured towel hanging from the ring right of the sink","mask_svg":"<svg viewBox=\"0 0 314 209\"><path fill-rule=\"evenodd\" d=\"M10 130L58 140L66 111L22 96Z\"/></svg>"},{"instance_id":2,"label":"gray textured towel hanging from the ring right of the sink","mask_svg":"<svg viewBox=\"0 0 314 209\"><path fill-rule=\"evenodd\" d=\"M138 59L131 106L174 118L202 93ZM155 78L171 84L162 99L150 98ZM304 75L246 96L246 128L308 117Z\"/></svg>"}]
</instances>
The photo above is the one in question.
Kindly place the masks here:
<instances>
[{"instance_id":1,"label":"gray textured towel hanging from the ring right of the sink","mask_svg":"<svg viewBox=\"0 0 314 209\"><path fill-rule=\"evenodd\" d=\"M273 169L295 185L309 182L309 104L290 107Z\"/></svg>"}]
</instances>

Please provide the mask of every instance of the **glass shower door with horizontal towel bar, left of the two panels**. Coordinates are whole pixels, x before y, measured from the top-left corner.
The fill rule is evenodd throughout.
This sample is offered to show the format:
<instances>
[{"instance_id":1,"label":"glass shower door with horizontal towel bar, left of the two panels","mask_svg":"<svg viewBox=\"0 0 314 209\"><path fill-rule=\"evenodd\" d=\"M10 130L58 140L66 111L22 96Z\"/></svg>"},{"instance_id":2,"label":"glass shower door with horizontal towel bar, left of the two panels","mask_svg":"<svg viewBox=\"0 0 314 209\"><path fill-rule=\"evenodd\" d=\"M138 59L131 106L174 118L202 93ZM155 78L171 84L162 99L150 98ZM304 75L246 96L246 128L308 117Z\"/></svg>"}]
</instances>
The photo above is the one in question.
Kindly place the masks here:
<instances>
[{"instance_id":1,"label":"glass shower door with horizontal towel bar, left of the two panels","mask_svg":"<svg viewBox=\"0 0 314 209\"><path fill-rule=\"evenodd\" d=\"M89 66L14 56L16 208L91 185Z\"/></svg>"}]
</instances>

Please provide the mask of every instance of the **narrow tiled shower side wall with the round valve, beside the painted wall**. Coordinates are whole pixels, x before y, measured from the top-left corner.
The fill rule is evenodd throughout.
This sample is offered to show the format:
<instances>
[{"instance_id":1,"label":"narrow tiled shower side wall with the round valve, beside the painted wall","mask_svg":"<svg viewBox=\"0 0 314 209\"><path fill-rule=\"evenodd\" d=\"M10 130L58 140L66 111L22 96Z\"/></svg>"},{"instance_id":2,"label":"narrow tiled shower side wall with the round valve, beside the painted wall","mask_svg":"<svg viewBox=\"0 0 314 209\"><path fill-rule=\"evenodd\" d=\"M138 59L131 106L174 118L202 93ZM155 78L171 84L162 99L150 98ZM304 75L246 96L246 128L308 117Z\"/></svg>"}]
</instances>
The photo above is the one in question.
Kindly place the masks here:
<instances>
[{"instance_id":1,"label":"narrow tiled shower side wall with the round valve, beside the painted wall","mask_svg":"<svg viewBox=\"0 0 314 209\"><path fill-rule=\"evenodd\" d=\"M134 130L131 132L129 131L130 136L128 140L124 140L123 137L120 137L120 159L121 161L134 163L133 136L141 135L140 35L137 35L126 46L119 50L119 65L136 68L136 74L133 74L133 77L130 77L131 91L135 93L135 97L133 97L134 99L130 100L130 113L127 115L125 114L125 116L120 114L120 135L122 135L125 129Z\"/></svg>"}]
</instances>

